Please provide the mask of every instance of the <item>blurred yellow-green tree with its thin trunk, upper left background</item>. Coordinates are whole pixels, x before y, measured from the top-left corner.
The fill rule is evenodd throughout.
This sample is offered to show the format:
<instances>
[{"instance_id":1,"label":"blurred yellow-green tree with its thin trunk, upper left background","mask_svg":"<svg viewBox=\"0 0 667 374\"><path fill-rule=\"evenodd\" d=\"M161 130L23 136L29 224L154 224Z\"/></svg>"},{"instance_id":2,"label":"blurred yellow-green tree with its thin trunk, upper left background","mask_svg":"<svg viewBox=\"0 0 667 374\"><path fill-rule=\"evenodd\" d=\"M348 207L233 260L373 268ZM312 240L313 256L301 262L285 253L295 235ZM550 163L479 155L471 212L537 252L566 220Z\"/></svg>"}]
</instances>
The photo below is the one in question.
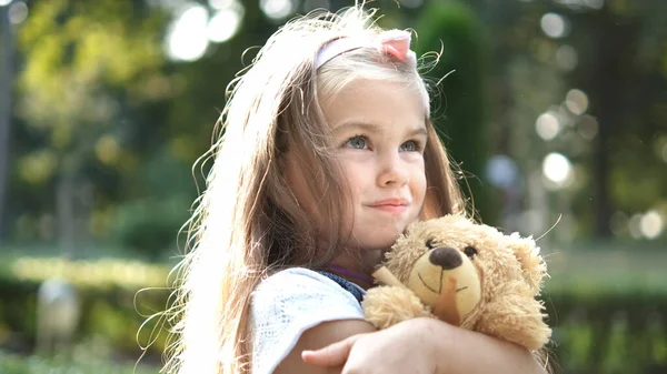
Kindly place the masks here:
<instances>
[{"instance_id":1,"label":"blurred yellow-green tree with its thin trunk, upper left background","mask_svg":"<svg viewBox=\"0 0 667 374\"><path fill-rule=\"evenodd\" d=\"M77 220L87 221L87 163L120 168L123 118L137 102L160 92L166 18L142 1L37 1L19 32L24 67L19 75L19 115L39 144L18 160L27 182L56 190L58 233L73 250ZM156 83L157 82L157 83ZM125 115L123 115L125 114ZM125 121L127 122L127 121ZM77 202L88 199L81 211Z\"/></svg>"}]
</instances>

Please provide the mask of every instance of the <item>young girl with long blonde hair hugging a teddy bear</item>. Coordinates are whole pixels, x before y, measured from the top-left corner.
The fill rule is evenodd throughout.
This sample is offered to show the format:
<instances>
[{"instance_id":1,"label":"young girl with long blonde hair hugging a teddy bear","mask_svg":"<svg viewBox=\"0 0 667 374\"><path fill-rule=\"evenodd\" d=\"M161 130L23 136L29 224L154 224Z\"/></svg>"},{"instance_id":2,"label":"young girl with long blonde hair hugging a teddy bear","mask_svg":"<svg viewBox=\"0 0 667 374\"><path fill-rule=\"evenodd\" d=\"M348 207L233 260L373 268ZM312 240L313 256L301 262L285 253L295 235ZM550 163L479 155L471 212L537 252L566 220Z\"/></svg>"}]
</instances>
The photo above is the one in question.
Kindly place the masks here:
<instances>
[{"instance_id":1,"label":"young girl with long blonde hair hugging a teddy bear","mask_svg":"<svg viewBox=\"0 0 667 374\"><path fill-rule=\"evenodd\" d=\"M295 20L236 82L167 371L541 372L529 352L437 320L364 321L382 251L410 222L465 210L410 34L372 17Z\"/></svg>"}]
</instances>

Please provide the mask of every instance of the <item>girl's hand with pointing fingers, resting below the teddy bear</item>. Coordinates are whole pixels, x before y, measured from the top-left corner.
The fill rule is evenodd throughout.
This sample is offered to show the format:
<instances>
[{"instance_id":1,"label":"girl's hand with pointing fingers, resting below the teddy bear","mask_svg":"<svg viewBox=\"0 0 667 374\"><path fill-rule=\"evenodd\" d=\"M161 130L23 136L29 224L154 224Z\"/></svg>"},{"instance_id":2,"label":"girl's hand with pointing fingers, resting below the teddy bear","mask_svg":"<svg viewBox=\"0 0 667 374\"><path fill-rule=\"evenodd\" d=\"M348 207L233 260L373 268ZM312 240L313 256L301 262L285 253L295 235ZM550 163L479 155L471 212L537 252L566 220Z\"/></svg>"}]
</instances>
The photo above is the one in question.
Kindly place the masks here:
<instances>
[{"instance_id":1,"label":"girl's hand with pointing fingers, resting below the teddy bear","mask_svg":"<svg viewBox=\"0 0 667 374\"><path fill-rule=\"evenodd\" d=\"M438 361L426 321L414 319L387 330L358 334L317 351L303 351L301 358L322 367L342 366L342 373L437 372ZM437 338L447 338L437 336ZM441 361L441 358L440 358Z\"/></svg>"}]
</instances>

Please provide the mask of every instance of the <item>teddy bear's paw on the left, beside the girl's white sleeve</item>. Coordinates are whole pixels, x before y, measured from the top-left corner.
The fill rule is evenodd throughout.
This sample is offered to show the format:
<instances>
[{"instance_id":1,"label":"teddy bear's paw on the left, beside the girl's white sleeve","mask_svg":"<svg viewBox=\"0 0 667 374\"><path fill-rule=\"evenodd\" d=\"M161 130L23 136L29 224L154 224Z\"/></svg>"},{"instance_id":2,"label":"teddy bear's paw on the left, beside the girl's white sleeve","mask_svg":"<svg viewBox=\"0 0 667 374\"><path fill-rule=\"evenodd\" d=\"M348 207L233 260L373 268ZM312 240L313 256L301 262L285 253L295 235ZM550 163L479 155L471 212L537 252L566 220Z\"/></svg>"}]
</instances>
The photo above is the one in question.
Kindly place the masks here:
<instances>
[{"instance_id":1,"label":"teddy bear's paw on the left, beside the girl's white sleeve","mask_svg":"<svg viewBox=\"0 0 667 374\"><path fill-rule=\"evenodd\" d=\"M399 286L377 286L366 292L364 315L377 328L387 328L399 322L432 316L415 293Z\"/></svg>"}]
</instances>

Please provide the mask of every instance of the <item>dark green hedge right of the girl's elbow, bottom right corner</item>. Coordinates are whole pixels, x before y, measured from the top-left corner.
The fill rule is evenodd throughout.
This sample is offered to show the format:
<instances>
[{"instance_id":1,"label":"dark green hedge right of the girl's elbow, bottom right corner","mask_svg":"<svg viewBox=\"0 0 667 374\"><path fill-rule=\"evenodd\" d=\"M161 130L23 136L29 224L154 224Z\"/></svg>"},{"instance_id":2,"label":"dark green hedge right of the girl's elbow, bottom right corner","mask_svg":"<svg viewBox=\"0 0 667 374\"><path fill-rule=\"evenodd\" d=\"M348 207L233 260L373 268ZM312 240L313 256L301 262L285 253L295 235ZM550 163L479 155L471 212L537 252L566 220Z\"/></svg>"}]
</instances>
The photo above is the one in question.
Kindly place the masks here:
<instances>
[{"instance_id":1,"label":"dark green hedge right of the girl's elbow, bottom right corner","mask_svg":"<svg viewBox=\"0 0 667 374\"><path fill-rule=\"evenodd\" d=\"M664 373L667 370L665 295L548 294L549 323L554 326L554 344L549 350L557 366L568 374Z\"/></svg>"}]
</instances>

